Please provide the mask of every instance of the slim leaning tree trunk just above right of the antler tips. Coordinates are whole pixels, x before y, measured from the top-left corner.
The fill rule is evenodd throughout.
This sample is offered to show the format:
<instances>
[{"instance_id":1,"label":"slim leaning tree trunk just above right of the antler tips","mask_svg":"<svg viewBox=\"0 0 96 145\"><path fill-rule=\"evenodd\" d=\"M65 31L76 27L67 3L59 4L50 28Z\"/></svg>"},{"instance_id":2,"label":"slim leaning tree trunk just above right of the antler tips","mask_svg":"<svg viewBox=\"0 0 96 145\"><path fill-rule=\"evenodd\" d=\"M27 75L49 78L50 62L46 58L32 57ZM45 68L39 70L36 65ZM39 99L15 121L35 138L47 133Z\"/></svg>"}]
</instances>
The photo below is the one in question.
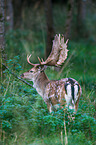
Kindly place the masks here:
<instances>
[{"instance_id":1,"label":"slim leaning tree trunk just above right of the antler tips","mask_svg":"<svg viewBox=\"0 0 96 145\"><path fill-rule=\"evenodd\" d=\"M71 35L73 6L74 6L74 0L69 0L68 1L68 6L67 6L68 15L67 15L67 21L66 21L66 30L65 30L65 38L66 39L70 38L70 35Z\"/></svg>"}]
</instances>

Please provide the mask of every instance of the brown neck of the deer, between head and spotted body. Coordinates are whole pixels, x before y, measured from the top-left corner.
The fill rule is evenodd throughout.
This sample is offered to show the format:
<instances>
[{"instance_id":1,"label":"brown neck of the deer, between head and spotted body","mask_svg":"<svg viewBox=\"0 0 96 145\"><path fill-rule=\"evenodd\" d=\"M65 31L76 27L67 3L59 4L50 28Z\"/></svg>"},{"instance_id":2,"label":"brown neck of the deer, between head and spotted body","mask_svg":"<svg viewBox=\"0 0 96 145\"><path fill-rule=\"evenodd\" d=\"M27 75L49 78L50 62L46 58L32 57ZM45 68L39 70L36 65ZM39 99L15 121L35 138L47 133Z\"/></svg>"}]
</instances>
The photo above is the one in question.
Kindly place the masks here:
<instances>
[{"instance_id":1,"label":"brown neck of the deer, between head and spotted body","mask_svg":"<svg viewBox=\"0 0 96 145\"><path fill-rule=\"evenodd\" d=\"M36 89L38 94L43 97L44 89L49 79L45 72L40 72L33 80L33 87Z\"/></svg>"}]
</instances>

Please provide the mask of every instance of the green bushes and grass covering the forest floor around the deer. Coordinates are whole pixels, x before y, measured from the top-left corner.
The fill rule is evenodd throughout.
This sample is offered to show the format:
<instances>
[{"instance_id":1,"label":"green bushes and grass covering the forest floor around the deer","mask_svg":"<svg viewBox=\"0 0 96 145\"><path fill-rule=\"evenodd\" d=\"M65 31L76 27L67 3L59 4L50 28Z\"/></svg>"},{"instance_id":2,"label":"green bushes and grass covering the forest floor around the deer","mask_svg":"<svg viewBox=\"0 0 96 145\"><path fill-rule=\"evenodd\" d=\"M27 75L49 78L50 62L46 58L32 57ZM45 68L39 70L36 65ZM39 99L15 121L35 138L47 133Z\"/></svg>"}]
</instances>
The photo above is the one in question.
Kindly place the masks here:
<instances>
[{"instance_id":1,"label":"green bushes and grass covering the forest floor around the deer","mask_svg":"<svg viewBox=\"0 0 96 145\"><path fill-rule=\"evenodd\" d=\"M37 56L44 58L45 53L46 33L42 9L40 14L30 14L30 11L26 8L22 29L6 33L6 63L18 76L31 67L26 61L27 54L32 53L31 61L35 63L38 62ZM63 17L64 12L65 9L55 6L54 22L57 33L62 33L66 17L66 13ZM91 15L92 22L94 15ZM89 22L87 24L89 25ZM95 24L90 22L90 25L90 29L94 31ZM96 45L93 41L95 36L95 33L90 35L86 42L82 39L79 42L69 41L68 57L73 51L74 53L67 64L67 60L65 61L65 67L62 66L62 73L53 67L46 70L49 79L72 77L79 81L82 87L78 112L74 115L72 110L65 111L68 145L96 143ZM7 69L3 73L5 78L0 84L0 144L61 145L61 131L64 134L63 110L58 109L49 114L46 104L34 88L20 82Z\"/></svg>"}]
</instances>

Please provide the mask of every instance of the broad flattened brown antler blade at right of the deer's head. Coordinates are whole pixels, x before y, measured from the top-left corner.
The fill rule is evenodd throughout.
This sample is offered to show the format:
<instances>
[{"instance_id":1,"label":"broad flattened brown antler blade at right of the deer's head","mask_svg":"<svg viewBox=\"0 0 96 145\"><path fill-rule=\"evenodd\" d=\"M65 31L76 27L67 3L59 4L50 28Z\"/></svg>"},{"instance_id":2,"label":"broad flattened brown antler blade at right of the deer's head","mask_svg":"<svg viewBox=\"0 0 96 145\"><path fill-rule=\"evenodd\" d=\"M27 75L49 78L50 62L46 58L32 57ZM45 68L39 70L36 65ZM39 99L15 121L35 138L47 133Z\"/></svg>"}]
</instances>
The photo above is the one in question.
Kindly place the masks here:
<instances>
[{"instance_id":1,"label":"broad flattened brown antler blade at right of the deer's head","mask_svg":"<svg viewBox=\"0 0 96 145\"><path fill-rule=\"evenodd\" d=\"M64 36L59 36L56 34L55 39L53 40L52 51L49 57L45 61L40 61L41 65L48 65L48 66L59 66L64 63L65 59L67 58L67 43L68 40L64 43Z\"/></svg>"}]
</instances>

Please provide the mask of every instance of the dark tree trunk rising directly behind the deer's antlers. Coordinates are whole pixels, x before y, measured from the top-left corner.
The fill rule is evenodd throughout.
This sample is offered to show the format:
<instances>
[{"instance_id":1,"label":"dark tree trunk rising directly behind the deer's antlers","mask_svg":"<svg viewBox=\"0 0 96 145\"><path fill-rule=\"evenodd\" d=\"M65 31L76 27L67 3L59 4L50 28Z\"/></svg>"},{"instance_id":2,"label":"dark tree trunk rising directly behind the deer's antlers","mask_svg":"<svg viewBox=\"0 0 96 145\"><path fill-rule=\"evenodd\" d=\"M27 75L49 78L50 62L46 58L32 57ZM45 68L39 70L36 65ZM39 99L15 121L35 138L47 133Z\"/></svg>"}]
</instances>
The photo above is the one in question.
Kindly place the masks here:
<instances>
[{"instance_id":1,"label":"dark tree trunk rising directly behind the deer's antlers","mask_svg":"<svg viewBox=\"0 0 96 145\"><path fill-rule=\"evenodd\" d=\"M53 28L53 13L52 13L52 1L45 0L45 15L47 23L47 42L45 57L47 58L52 49L52 40L54 39L54 28Z\"/></svg>"}]
</instances>

